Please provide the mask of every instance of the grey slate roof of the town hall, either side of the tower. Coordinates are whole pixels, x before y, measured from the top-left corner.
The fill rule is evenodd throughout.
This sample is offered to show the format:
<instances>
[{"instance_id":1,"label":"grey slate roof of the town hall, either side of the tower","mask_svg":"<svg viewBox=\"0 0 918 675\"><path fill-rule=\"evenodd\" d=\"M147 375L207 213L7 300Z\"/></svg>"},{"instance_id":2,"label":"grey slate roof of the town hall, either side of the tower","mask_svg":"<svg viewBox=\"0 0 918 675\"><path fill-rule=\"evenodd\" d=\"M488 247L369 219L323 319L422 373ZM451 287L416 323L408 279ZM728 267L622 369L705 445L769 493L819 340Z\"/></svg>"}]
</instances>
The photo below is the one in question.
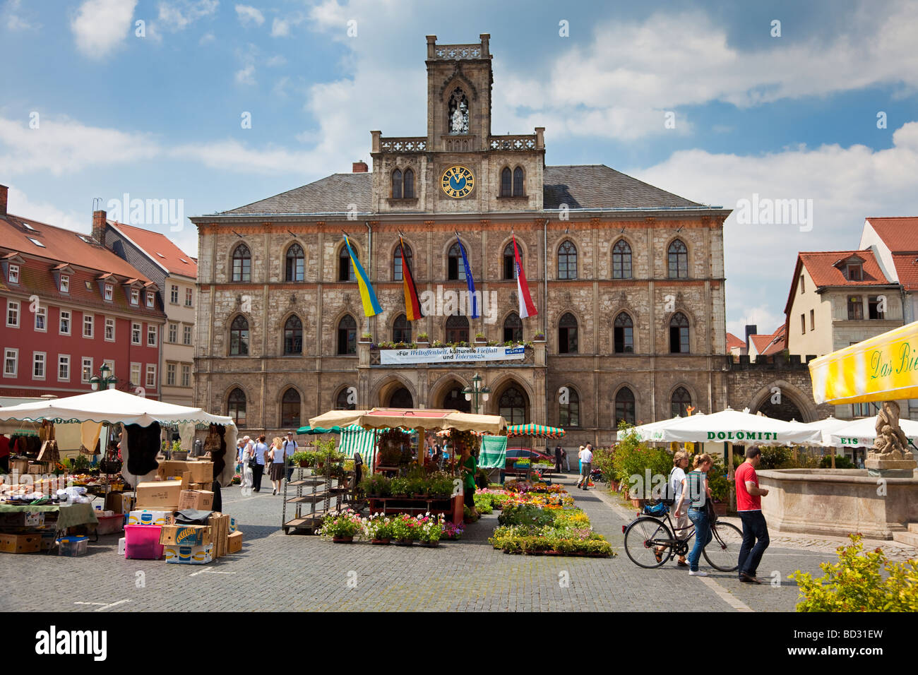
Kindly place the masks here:
<instances>
[{"instance_id":1,"label":"grey slate roof of the town hall, either side of the tower","mask_svg":"<svg viewBox=\"0 0 918 675\"><path fill-rule=\"evenodd\" d=\"M704 205L648 185L603 164L546 166L543 208L700 208ZM217 215L342 213L372 208L373 174L331 174ZM352 205L354 205L352 207Z\"/></svg>"}]
</instances>

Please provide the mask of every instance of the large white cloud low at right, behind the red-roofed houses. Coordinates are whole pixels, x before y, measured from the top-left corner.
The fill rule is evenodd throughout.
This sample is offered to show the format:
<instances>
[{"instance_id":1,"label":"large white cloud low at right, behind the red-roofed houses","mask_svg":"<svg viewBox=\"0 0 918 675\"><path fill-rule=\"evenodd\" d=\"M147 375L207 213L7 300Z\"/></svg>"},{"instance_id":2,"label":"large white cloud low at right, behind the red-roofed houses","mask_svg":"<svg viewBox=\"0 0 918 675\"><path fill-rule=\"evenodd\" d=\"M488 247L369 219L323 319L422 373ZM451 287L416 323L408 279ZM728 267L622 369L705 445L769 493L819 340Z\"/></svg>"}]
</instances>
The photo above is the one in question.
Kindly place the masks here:
<instances>
[{"instance_id":1,"label":"large white cloud low at right, behind the red-roofed houses","mask_svg":"<svg viewBox=\"0 0 918 675\"><path fill-rule=\"evenodd\" d=\"M837 144L764 156L690 150L628 173L677 195L734 209L723 241L727 318L735 326L751 311L783 314L798 252L856 250L866 217L918 215L918 121L897 129L892 141L891 148L878 151ZM812 231L738 223L737 201L754 194L760 200L812 199ZM771 323L759 330L770 332Z\"/></svg>"}]
</instances>

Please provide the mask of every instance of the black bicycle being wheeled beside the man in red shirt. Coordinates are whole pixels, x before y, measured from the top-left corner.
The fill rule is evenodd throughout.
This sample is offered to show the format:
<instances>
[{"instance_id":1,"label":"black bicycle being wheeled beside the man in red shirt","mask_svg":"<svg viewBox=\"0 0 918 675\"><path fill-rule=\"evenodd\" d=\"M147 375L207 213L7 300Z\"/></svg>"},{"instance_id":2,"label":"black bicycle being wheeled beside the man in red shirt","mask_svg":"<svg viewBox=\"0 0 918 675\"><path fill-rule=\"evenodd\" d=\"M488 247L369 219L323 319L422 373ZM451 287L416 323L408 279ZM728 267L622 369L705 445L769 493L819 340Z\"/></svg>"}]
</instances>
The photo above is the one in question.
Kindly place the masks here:
<instances>
[{"instance_id":1,"label":"black bicycle being wheeled beside the man in red shirt","mask_svg":"<svg viewBox=\"0 0 918 675\"><path fill-rule=\"evenodd\" d=\"M666 507L667 526L661 518L638 514L631 523L621 526L625 535L625 553L639 568L653 569L666 565L676 556L686 556L691 550L689 542L695 536L695 525L674 528ZM691 530L685 539L673 536L673 531ZM716 521L711 523L711 542L701 552L712 568L721 572L733 572L739 568L740 546L743 545L743 531L732 523ZM657 557L657 548L662 549Z\"/></svg>"}]
</instances>

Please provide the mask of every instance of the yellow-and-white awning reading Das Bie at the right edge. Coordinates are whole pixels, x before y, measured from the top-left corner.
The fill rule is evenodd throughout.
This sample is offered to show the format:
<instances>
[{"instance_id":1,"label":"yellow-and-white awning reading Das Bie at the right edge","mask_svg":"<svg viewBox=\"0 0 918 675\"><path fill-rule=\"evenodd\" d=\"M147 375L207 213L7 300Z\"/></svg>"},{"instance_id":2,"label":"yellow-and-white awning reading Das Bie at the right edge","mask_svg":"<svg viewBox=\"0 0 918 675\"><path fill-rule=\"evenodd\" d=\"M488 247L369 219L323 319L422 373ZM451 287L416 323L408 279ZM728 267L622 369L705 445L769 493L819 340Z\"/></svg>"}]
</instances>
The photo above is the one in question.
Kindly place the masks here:
<instances>
[{"instance_id":1,"label":"yellow-and-white awning reading Das Bie at the right edge","mask_svg":"<svg viewBox=\"0 0 918 675\"><path fill-rule=\"evenodd\" d=\"M810 362L817 403L918 399L918 321Z\"/></svg>"}]
</instances>

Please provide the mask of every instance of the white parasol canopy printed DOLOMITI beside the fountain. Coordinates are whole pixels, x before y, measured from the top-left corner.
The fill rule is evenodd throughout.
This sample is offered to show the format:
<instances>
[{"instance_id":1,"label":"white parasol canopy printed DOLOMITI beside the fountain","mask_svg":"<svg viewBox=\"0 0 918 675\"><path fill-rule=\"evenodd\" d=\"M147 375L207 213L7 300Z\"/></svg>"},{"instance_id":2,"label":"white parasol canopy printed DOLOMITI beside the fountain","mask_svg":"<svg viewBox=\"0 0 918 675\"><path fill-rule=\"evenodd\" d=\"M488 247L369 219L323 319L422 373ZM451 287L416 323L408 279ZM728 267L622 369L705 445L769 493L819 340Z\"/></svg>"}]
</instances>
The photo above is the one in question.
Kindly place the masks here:
<instances>
[{"instance_id":1,"label":"white parasol canopy printed DOLOMITI beside the fountain","mask_svg":"<svg viewBox=\"0 0 918 675\"><path fill-rule=\"evenodd\" d=\"M819 430L800 429L790 422L730 408L711 415L691 415L666 422L655 422L655 428L649 432L644 426L634 427L633 432L643 441L665 443L782 445L821 440Z\"/></svg>"}]
</instances>

